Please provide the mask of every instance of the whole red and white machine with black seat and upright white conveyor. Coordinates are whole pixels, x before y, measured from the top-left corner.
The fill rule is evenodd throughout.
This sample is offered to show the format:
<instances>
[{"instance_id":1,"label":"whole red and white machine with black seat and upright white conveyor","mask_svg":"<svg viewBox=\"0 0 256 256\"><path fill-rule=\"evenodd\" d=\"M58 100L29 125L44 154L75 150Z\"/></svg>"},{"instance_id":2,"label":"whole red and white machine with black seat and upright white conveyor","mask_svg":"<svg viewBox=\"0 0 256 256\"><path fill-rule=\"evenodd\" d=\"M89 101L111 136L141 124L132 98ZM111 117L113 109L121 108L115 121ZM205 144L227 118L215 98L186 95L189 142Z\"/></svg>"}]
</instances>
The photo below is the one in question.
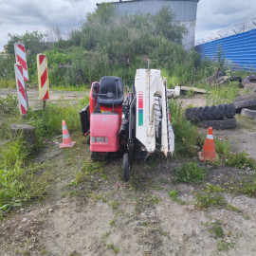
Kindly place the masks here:
<instances>
[{"instance_id":1,"label":"whole red and white machine with black seat and upright white conveyor","mask_svg":"<svg viewBox=\"0 0 256 256\"><path fill-rule=\"evenodd\" d=\"M123 155L123 179L129 180L134 158L174 154L174 131L169 117L166 79L157 69L137 69L133 92L123 94L118 77L93 82L90 104L80 112L82 133L90 133L91 158Z\"/></svg>"}]
</instances>

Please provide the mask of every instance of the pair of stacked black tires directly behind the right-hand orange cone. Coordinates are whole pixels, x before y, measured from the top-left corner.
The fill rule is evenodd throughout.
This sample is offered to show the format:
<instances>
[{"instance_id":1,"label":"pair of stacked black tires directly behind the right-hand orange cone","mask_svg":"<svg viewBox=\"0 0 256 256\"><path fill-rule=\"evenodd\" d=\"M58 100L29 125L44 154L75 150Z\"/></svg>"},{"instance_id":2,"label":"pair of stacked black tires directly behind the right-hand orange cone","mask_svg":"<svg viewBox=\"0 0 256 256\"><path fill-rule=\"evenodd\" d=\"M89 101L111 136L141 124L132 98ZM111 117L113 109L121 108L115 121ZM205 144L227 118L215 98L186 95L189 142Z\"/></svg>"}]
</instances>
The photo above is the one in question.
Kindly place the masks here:
<instances>
[{"instance_id":1,"label":"pair of stacked black tires directly behind the right-hand orange cone","mask_svg":"<svg viewBox=\"0 0 256 256\"><path fill-rule=\"evenodd\" d=\"M185 119L195 121L203 128L223 130L236 127L234 104L221 104L205 107L192 107L185 111Z\"/></svg>"}]
</instances>

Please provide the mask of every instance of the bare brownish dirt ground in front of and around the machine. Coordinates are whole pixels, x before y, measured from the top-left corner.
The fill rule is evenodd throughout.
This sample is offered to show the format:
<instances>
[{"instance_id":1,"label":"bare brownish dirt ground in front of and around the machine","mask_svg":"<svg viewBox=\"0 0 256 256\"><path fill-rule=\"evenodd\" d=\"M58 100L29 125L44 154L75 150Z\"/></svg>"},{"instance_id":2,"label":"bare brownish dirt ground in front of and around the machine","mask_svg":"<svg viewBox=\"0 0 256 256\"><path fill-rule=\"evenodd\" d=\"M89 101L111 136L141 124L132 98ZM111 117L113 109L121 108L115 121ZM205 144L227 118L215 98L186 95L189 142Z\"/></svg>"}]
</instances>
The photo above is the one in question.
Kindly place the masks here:
<instances>
[{"instance_id":1,"label":"bare brownish dirt ground in front of and around the machine","mask_svg":"<svg viewBox=\"0 0 256 256\"><path fill-rule=\"evenodd\" d=\"M179 101L193 104L198 99ZM235 150L246 150L256 159L252 121L238 117L236 129L214 131L214 136L231 139ZM60 150L56 138L35 159L50 174L48 195L3 219L0 255L256 255L256 199L225 193L237 210L197 210L193 192L200 185L173 181L174 168L188 158L137 162L129 183L120 179L121 159L112 159L104 163L103 172L75 185L89 148L80 133L71 137L77 141L74 148ZM210 168L207 182L221 184L242 175L234 168ZM170 198L173 190L184 204ZM216 223L221 223L223 238L211 232Z\"/></svg>"}]
</instances>

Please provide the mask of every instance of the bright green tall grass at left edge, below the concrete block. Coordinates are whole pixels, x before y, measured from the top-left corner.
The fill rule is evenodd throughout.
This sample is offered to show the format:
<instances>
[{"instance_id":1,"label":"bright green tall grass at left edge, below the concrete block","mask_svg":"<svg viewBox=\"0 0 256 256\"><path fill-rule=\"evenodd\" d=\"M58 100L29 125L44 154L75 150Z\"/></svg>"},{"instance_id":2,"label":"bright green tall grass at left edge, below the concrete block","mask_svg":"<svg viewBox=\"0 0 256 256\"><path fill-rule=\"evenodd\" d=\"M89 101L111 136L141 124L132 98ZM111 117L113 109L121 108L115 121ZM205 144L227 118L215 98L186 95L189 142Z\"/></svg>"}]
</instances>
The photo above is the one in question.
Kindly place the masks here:
<instances>
[{"instance_id":1,"label":"bright green tall grass at left edge, below the concrete block","mask_svg":"<svg viewBox=\"0 0 256 256\"><path fill-rule=\"evenodd\" d=\"M0 152L0 211L21 206L24 201L46 195L46 176L38 176L36 165L26 165L27 151L18 137Z\"/></svg>"}]
</instances>

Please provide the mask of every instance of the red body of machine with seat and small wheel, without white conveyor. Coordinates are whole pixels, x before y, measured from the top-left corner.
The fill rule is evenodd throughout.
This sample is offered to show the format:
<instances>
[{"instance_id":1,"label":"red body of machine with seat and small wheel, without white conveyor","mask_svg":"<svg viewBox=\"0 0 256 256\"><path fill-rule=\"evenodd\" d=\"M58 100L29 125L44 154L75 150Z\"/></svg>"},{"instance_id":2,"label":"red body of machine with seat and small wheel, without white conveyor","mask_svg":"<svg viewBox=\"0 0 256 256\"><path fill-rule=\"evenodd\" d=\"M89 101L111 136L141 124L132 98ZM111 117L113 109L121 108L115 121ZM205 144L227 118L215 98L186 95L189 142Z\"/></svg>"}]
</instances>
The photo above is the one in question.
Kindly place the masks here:
<instances>
[{"instance_id":1,"label":"red body of machine with seat and small wheel, without white conveyor","mask_svg":"<svg viewBox=\"0 0 256 256\"><path fill-rule=\"evenodd\" d=\"M80 112L82 133L84 136L90 133L91 158L102 160L110 155L123 155L125 181L129 180L133 156L131 146L128 154L129 112L133 99L133 93L123 95L123 83L119 77L102 77L100 82L92 83L90 104ZM135 139L135 117L133 120L132 140Z\"/></svg>"}]
</instances>

